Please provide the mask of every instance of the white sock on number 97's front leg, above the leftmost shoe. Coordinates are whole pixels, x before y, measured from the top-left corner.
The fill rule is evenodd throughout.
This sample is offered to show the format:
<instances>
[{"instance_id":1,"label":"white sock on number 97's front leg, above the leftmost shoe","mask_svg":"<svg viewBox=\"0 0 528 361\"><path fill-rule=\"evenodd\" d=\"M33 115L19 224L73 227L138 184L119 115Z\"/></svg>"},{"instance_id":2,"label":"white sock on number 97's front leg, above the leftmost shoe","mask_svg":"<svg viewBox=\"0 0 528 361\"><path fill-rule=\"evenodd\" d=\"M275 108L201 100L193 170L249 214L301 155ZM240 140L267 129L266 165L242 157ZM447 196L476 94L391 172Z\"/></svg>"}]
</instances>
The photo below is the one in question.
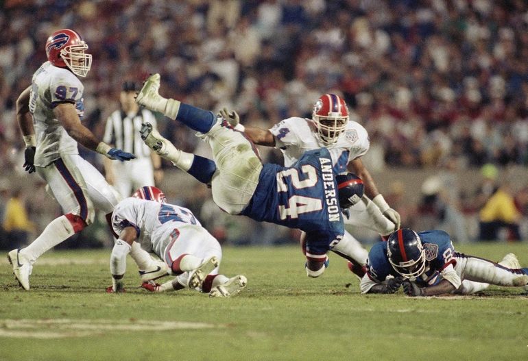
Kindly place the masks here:
<instances>
[{"instance_id":1,"label":"white sock on number 97's front leg, above the leftmost shoe","mask_svg":"<svg viewBox=\"0 0 528 361\"><path fill-rule=\"evenodd\" d=\"M73 236L73 225L66 218L66 216L60 216L53 219L44 231L32 242L31 245L21 249L20 255L29 262L34 264L40 256L43 255L49 249L55 247L68 237Z\"/></svg>"}]
</instances>

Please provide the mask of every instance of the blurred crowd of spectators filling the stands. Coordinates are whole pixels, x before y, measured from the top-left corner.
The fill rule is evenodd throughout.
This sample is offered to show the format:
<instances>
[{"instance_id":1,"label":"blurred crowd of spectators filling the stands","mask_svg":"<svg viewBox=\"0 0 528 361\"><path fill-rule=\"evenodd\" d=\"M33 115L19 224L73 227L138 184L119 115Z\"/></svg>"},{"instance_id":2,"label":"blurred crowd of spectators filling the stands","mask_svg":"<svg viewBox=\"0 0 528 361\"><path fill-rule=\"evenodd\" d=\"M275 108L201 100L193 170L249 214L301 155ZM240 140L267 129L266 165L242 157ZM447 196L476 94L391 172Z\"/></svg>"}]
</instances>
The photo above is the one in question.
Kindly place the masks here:
<instances>
[{"instance_id":1,"label":"blurred crowd of spectators filling the stands","mask_svg":"<svg viewBox=\"0 0 528 361\"><path fill-rule=\"evenodd\" d=\"M3 172L25 176L14 103L46 60L47 36L61 27L79 32L93 54L92 70L82 79L83 121L100 136L106 116L118 107L123 79L141 82L149 73L160 73L161 94L205 109L227 106L239 112L242 123L264 128L289 116L310 117L321 94L337 92L348 102L352 120L370 134L364 162L374 175L387 166L481 169L528 164L527 1L0 4ZM206 153L189 129L166 119L160 119L159 127L178 147ZM277 151L262 151L268 162L280 162ZM101 165L95 153L83 154ZM184 199L195 211L211 203L207 190L196 188L203 197ZM522 203L514 217L518 220L525 212L525 190L505 192ZM478 212L485 200L478 204L476 208L471 198L464 206L458 199L454 209ZM403 213L427 209L430 204L413 205ZM221 223L221 215L211 213L211 222ZM225 232L225 224L220 228Z\"/></svg>"}]
</instances>

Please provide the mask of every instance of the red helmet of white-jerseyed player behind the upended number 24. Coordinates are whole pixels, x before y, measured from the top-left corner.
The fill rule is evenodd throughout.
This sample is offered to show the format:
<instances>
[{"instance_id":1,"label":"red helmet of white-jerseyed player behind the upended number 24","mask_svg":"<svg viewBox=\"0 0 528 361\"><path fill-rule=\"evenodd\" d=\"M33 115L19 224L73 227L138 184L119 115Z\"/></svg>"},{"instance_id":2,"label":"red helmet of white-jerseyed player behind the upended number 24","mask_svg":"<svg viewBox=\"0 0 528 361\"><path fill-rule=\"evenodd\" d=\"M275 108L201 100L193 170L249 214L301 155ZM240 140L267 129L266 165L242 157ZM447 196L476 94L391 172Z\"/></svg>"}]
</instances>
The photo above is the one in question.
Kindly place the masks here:
<instances>
[{"instance_id":1,"label":"red helmet of white-jerseyed player behind the upended number 24","mask_svg":"<svg viewBox=\"0 0 528 361\"><path fill-rule=\"evenodd\" d=\"M331 145L337 142L337 137L346 128L348 108L341 97L325 94L313 105L312 119L322 142Z\"/></svg>"}]
</instances>

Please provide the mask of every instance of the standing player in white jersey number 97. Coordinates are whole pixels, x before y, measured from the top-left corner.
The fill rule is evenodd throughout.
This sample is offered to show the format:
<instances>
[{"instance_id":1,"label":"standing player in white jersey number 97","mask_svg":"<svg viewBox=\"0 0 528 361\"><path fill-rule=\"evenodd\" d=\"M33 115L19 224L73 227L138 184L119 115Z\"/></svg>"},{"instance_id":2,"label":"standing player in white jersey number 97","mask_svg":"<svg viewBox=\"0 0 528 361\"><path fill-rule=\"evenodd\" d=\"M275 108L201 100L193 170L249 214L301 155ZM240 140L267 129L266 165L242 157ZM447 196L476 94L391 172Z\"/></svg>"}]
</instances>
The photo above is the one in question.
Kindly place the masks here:
<instances>
[{"instance_id":1,"label":"standing player in white jersey number 97","mask_svg":"<svg viewBox=\"0 0 528 361\"><path fill-rule=\"evenodd\" d=\"M94 208L104 211L110 221L120 200L101 173L81 158L77 142L112 160L134 158L100 142L81 123L84 86L78 77L85 77L92 63L86 42L77 32L60 29L49 36L45 49L49 61L34 73L32 85L17 99L16 119L26 145L25 170L45 179L64 215L51 221L30 245L8 253L13 273L25 290L29 290L34 262L45 251L91 224ZM139 245L132 249L143 279L166 273L165 263L158 260L156 264Z\"/></svg>"}]
</instances>

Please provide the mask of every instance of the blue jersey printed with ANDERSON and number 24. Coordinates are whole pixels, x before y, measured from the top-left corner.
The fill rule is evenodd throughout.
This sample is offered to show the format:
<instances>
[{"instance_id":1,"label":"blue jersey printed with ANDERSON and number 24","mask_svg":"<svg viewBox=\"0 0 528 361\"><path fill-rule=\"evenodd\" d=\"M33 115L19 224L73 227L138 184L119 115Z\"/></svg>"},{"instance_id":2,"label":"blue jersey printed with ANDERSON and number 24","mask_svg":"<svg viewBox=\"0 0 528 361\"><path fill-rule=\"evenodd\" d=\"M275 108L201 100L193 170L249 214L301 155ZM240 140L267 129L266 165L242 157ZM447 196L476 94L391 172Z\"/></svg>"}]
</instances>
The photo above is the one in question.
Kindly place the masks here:
<instances>
[{"instance_id":1,"label":"blue jersey printed with ANDERSON and number 24","mask_svg":"<svg viewBox=\"0 0 528 361\"><path fill-rule=\"evenodd\" d=\"M328 149L307 151L291 167L264 164L254 195L241 214L317 234L326 245L341 238L343 218Z\"/></svg>"}]
</instances>

